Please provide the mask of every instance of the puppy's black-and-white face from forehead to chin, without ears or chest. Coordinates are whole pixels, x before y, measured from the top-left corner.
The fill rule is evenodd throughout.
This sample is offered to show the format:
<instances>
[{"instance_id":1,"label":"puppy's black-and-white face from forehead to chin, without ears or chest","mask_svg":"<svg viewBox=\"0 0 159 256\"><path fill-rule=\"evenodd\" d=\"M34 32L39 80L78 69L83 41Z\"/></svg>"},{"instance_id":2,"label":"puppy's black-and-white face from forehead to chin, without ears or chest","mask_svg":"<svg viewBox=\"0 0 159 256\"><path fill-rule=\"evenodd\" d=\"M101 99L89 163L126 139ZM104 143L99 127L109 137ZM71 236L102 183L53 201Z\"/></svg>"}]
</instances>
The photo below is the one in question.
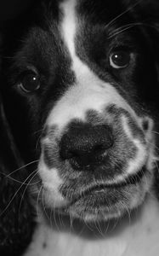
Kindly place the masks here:
<instances>
[{"instance_id":1,"label":"puppy's black-and-white face from forehead to chin, without ears or chest","mask_svg":"<svg viewBox=\"0 0 159 256\"><path fill-rule=\"evenodd\" d=\"M137 7L52 1L14 56L13 98L41 131L44 202L72 217L120 217L153 183L157 78Z\"/></svg>"}]
</instances>

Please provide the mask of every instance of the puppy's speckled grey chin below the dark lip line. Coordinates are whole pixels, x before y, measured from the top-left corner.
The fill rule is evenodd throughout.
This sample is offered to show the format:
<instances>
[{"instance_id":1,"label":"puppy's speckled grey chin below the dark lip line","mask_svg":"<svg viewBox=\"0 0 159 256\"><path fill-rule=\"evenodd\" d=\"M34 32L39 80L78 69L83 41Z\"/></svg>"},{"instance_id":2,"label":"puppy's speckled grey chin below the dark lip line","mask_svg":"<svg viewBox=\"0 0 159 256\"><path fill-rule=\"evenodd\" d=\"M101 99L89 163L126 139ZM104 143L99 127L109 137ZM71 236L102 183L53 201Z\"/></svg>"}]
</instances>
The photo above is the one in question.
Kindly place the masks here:
<instances>
[{"instance_id":1,"label":"puppy's speckled grey chin below the dark lip line","mask_svg":"<svg viewBox=\"0 0 159 256\"><path fill-rule=\"evenodd\" d=\"M117 191L94 191L90 195L83 196L64 208L72 218L80 218L87 222L107 221L112 218L122 218L139 207L145 200L146 192L135 191L133 188ZM125 191L124 191L125 190ZM121 194L121 195L120 195ZM131 195L130 195L131 194Z\"/></svg>"}]
</instances>

